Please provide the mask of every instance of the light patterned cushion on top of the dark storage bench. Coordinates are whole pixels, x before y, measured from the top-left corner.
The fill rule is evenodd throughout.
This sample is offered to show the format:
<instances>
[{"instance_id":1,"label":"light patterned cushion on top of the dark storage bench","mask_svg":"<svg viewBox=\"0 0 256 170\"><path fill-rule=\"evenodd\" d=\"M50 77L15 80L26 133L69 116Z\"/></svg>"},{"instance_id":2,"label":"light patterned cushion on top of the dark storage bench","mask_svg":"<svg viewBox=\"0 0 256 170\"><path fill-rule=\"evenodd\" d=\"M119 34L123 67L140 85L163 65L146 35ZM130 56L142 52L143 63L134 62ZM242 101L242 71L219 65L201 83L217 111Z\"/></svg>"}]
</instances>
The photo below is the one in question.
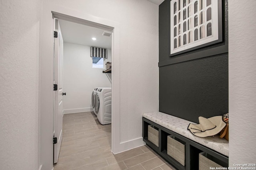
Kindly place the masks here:
<instances>
[{"instance_id":1,"label":"light patterned cushion on top of the dark storage bench","mask_svg":"<svg viewBox=\"0 0 256 170\"><path fill-rule=\"evenodd\" d=\"M187 130L189 123L194 123L191 121L187 121L185 119L181 119L172 115L168 115L162 112L150 112L143 113L142 115L146 119L165 127L171 131L174 131L192 141L196 141L201 145L204 145L212 150L215 150L221 154L228 156L229 153L229 145L226 139L220 139L218 135L214 137L196 137Z\"/></svg>"}]
</instances>

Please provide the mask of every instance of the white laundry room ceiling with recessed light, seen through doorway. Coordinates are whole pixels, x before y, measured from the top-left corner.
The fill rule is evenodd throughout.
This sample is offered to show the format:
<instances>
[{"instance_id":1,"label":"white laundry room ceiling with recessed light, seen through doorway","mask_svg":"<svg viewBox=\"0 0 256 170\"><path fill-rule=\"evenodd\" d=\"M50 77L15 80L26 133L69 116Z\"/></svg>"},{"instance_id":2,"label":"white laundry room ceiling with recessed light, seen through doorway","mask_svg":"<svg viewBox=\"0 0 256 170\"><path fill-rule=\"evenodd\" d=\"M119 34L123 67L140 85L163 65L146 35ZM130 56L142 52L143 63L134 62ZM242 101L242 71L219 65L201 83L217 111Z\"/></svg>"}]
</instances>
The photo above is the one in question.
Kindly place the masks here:
<instances>
[{"instance_id":1,"label":"white laundry room ceiling with recessed light, seen through doorway","mask_svg":"<svg viewBox=\"0 0 256 170\"><path fill-rule=\"evenodd\" d=\"M59 21L64 42L111 49L111 36L102 35L106 30L65 20ZM92 37L96 40L92 40Z\"/></svg>"}]
</instances>

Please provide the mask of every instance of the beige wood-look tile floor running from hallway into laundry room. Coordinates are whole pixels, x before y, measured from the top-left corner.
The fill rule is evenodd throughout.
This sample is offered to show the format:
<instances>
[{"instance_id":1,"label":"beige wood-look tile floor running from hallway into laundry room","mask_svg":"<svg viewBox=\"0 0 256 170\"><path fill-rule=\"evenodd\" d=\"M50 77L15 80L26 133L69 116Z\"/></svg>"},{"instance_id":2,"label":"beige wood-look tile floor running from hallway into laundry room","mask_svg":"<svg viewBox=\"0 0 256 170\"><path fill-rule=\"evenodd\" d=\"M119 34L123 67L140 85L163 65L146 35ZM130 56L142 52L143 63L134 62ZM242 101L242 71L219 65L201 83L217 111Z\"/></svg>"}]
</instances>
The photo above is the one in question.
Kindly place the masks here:
<instances>
[{"instance_id":1,"label":"beige wood-look tile floor running from hallway into laundry room","mask_svg":"<svg viewBox=\"0 0 256 170\"><path fill-rule=\"evenodd\" d=\"M148 146L113 154L111 125L93 112L63 116L63 139L54 170L175 170Z\"/></svg>"}]
</instances>

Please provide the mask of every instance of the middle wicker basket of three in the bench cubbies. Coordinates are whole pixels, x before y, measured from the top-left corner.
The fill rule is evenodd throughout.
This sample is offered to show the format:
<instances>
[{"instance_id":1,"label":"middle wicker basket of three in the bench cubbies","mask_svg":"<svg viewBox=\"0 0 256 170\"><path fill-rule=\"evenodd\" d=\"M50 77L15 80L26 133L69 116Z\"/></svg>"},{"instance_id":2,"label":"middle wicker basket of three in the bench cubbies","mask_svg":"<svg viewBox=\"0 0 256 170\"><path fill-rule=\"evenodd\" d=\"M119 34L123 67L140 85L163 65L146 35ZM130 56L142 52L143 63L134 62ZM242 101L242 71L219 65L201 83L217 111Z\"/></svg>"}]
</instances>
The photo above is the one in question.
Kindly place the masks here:
<instances>
[{"instance_id":1,"label":"middle wicker basket of three in the bench cubbies","mask_svg":"<svg viewBox=\"0 0 256 170\"><path fill-rule=\"evenodd\" d=\"M174 136L167 136L167 154L183 166L186 165L186 145Z\"/></svg>"}]
</instances>

